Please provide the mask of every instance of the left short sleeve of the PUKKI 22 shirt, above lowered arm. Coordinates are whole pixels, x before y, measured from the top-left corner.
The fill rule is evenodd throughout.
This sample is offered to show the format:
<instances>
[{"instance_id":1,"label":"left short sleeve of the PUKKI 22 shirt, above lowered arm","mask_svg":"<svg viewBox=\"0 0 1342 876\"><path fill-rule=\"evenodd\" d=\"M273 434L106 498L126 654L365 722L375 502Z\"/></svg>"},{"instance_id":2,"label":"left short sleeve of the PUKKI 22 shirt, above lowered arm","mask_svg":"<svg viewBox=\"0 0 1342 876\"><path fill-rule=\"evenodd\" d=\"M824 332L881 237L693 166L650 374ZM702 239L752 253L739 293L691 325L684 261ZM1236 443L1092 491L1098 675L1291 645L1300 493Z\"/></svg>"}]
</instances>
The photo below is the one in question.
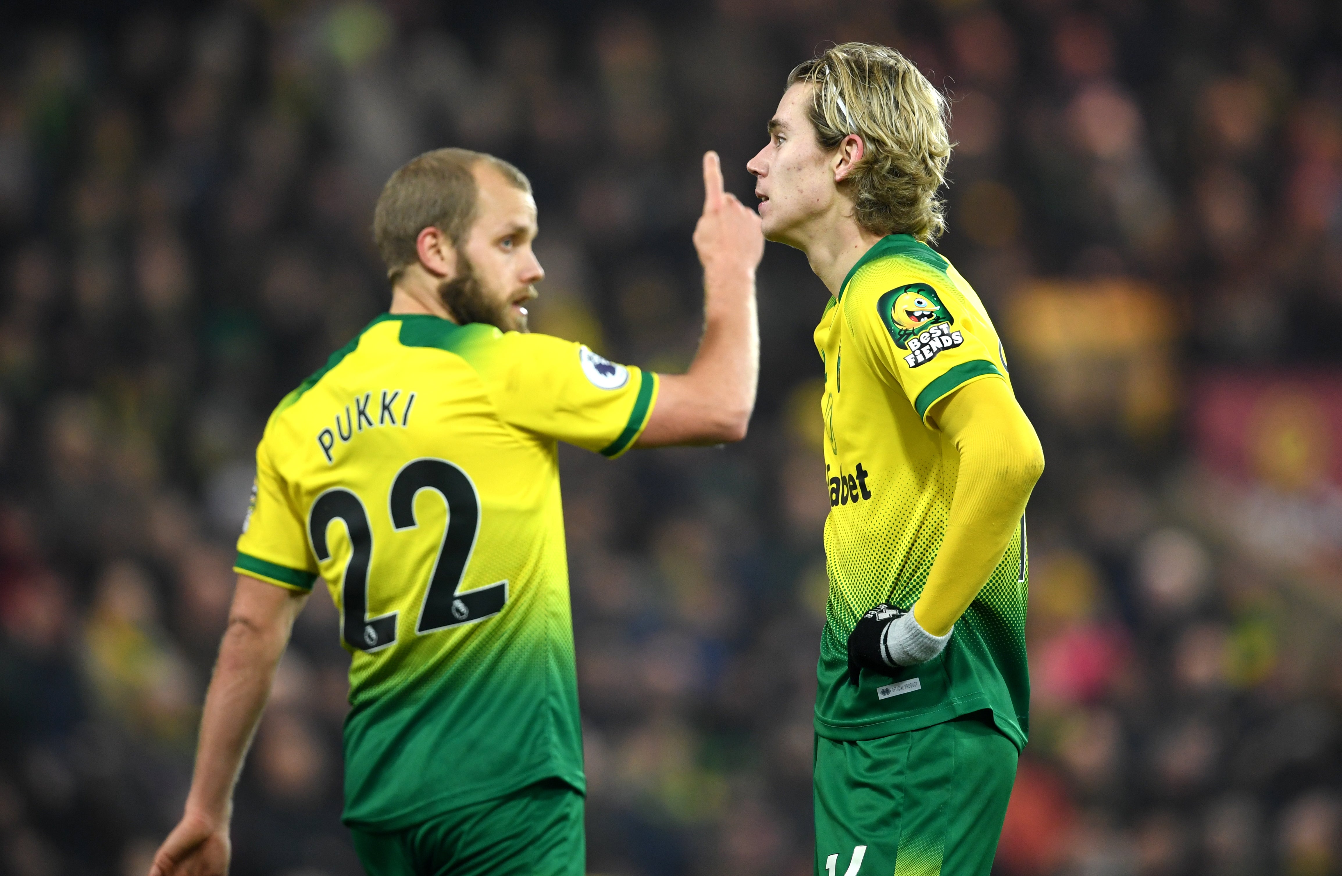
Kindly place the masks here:
<instances>
[{"instance_id":1,"label":"left short sleeve of the PUKKI 22 shirt, above lowered arm","mask_svg":"<svg viewBox=\"0 0 1342 876\"><path fill-rule=\"evenodd\" d=\"M303 518L271 463L266 439L256 448L256 480L234 571L305 593L317 581L317 559L307 545Z\"/></svg>"}]
</instances>

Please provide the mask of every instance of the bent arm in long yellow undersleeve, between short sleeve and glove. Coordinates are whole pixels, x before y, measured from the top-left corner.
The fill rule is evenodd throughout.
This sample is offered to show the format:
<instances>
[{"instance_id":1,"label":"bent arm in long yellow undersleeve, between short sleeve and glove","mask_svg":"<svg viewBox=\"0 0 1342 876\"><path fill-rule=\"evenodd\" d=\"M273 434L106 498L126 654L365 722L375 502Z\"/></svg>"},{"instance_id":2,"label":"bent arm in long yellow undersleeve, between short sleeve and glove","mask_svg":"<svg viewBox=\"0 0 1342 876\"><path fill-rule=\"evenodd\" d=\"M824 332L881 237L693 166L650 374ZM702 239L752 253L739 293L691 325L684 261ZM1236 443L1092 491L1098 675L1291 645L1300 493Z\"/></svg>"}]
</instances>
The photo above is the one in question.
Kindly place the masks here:
<instances>
[{"instance_id":1,"label":"bent arm in long yellow undersleeve, between short sleeve and glove","mask_svg":"<svg viewBox=\"0 0 1342 876\"><path fill-rule=\"evenodd\" d=\"M960 451L950 518L914 604L918 624L934 636L950 631L1001 562L1044 470L1039 437L1004 384L985 380L961 393L941 419Z\"/></svg>"}]
</instances>

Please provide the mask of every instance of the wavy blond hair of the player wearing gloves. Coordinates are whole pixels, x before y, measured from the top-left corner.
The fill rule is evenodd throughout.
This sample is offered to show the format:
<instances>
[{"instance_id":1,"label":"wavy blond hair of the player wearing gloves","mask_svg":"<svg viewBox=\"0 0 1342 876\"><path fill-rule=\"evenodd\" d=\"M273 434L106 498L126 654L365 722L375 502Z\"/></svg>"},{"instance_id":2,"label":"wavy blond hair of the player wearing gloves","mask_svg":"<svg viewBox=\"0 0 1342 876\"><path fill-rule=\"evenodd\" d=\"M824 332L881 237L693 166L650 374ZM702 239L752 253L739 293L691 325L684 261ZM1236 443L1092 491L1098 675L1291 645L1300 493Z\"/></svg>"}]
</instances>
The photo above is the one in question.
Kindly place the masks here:
<instances>
[{"instance_id":1,"label":"wavy blond hair of the player wearing gloves","mask_svg":"<svg viewBox=\"0 0 1342 876\"><path fill-rule=\"evenodd\" d=\"M868 43L843 43L797 64L788 87L798 82L815 86L809 115L823 149L862 137L862 160L840 182L858 223L878 235L935 240L946 229L937 197L951 148L946 98L911 60Z\"/></svg>"}]
</instances>

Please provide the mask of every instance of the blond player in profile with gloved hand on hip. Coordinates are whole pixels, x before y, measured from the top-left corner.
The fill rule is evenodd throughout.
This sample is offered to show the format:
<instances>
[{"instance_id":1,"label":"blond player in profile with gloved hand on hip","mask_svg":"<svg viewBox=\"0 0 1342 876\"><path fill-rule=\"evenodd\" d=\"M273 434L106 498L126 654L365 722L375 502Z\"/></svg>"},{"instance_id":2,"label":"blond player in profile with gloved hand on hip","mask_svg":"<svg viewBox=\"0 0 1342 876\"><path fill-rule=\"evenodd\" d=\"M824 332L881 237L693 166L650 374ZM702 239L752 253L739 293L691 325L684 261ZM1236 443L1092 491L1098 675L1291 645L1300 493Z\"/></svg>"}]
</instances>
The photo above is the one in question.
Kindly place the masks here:
<instances>
[{"instance_id":1,"label":"blond player in profile with gloved hand on hip","mask_svg":"<svg viewBox=\"0 0 1342 876\"><path fill-rule=\"evenodd\" d=\"M788 78L749 162L769 240L829 290L829 600L816 871L989 872L1028 732L1025 502L1044 467L945 227L946 101L847 43Z\"/></svg>"}]
</instances>

